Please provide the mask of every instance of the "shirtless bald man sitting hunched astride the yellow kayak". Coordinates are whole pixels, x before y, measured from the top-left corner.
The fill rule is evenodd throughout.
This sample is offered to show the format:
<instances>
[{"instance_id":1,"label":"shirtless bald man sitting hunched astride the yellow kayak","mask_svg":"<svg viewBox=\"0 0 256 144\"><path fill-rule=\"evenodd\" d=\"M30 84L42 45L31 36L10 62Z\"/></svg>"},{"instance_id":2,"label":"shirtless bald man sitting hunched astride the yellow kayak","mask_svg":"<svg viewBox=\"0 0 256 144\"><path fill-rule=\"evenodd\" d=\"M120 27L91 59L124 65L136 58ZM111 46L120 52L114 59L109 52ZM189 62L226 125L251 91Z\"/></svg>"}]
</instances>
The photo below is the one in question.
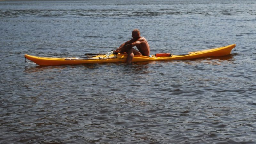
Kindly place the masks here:
<instances>
[{"instance_id":1,"label":"shirtless bald man sitting hunched astride the yellow kayak","mask_svg":"<svg viewBox=\"0 0 256 144\"><path fill-rule=\"evenodd\" d=\"M134 49L134 46L136 46L139 51ZM134 55L149 56L150 48L147 40L140 36L140 31L138 29L134 29L132 31L132 39L121 44L115 52L127 53L127 62L131 62Z\"/></svg>"}]
</instances>

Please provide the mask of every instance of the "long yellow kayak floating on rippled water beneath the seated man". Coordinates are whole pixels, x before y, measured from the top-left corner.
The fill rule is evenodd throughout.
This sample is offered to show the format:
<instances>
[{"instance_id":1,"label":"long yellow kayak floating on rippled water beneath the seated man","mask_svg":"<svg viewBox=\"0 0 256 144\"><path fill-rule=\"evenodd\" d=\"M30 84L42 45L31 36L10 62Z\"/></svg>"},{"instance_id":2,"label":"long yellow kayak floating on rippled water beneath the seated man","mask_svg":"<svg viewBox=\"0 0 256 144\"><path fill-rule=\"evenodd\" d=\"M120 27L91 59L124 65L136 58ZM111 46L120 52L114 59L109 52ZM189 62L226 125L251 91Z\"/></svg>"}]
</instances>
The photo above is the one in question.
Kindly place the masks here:
<instances>
[{"instance_id":1,"label":"long yellow kayak floating on rippled water beneath the seated man","mask_svg":"<svg viewBox=\"0 0 256 144\"><path fill-rule=\"evenodd\" d=\"M213 48L208 50L189 52L186 55L173 55L169 56L137 56L135 55L132 62L143 61L163 61L163 60L188 60L201 57L220 57L229 55L231 50L236 47L236 44L231 44L224 47ZM70 64L85 64L85 63L109 63L109 62L126 62L127 54L114 54L113 51L110 54L99 54L88 58L54 58L54 57L37 57L25 54L25 58L35 62L40 66L49 65L70 65Z\"/></svg>"}]
</instances>

